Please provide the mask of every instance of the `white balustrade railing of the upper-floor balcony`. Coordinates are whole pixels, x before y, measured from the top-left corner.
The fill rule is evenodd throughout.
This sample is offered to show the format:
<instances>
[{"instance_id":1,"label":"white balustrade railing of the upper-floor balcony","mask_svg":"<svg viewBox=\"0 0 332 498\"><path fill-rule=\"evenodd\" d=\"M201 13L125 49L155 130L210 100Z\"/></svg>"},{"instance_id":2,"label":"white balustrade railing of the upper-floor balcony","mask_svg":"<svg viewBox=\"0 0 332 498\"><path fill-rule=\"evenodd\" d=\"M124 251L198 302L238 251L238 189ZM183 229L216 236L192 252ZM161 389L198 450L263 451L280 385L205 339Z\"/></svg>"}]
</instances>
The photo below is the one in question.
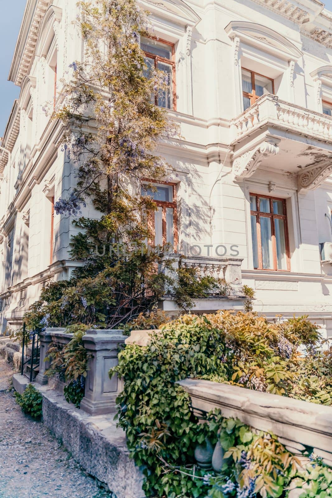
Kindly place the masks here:
<instances>
[{"instance_id":1,"label":"white balustrade railing of the upper-floor balcony","mask_svg":"<svg viewBox=\"0 0 332 498\"><path fill-rule=\"evenodd\" d=\"M321 140L332 140L332 117L280 99L274 100L273 95L264 95L231 122L234 142L267 123Z\"/></svg>"}]
</instances>

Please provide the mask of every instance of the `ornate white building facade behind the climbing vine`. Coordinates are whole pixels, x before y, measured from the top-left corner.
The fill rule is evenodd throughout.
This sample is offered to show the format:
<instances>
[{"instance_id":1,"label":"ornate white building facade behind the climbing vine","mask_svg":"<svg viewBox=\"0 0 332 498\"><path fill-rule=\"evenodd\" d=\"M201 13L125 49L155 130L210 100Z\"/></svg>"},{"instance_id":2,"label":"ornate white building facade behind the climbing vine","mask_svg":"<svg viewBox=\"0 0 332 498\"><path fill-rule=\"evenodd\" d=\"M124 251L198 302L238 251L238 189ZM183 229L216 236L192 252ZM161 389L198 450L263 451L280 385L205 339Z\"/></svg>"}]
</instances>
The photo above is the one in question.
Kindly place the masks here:
<instances>
[{"instance_id":1,"label":"ornate white building facade behind the climbing vine","mask_svg":"<svg viewBox=\"0 0 332 498\"><path fill-rule=\"evenodd\" d=\"M10 68L21 91L0 155L2 330L75 266L72 218L53 209L75 179L60 143L66 128L50 120L62 78L84 54L75 3L27 0ZM242 259L255 311L307 314L332 336L332 12L318 0L140 4L151 11L142 49L169 75L156 103L182 136L159 147L173 169L156 242Z\"/></svg>"}]
</instances>

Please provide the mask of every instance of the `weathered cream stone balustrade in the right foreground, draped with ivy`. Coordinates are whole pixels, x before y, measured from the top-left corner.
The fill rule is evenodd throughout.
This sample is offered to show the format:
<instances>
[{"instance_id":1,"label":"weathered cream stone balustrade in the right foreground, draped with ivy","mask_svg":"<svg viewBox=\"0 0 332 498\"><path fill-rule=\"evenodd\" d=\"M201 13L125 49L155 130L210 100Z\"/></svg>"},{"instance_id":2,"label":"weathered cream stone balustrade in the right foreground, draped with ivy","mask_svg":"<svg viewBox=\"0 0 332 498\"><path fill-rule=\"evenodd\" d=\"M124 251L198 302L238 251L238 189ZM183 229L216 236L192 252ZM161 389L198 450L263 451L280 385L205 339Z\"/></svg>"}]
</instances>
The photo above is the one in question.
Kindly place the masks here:
<instances>
[{"instance_id":1,"label":"weathered cream stone balustrade in the right foreground, draped with ivy","mask_svg":"<svg viewBox=\"0 0 332 498\"><path fill-rule=\"evenodd\" d=\"M219 408L225 417L238 418L255 429L275 434L300 459L305 450L314 451L332 467L331 406L209 380L187 378L178 383L191 395L199 418Z\"/></svg>"}]
</instances>

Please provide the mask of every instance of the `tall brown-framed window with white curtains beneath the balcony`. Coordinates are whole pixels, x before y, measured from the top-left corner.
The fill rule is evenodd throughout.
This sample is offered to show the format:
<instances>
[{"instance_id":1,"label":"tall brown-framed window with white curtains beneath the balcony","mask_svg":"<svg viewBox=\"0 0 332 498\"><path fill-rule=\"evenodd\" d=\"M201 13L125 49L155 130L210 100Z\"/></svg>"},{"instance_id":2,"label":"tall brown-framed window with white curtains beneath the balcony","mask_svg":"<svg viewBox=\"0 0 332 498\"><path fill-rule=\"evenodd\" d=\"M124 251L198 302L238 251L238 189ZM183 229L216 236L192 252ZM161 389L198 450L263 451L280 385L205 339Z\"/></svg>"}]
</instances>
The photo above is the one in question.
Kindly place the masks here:
<instances>
[{"instance_id":1,"label":"tall brown-framed window with white curtains beneath the balcony","mask_svg":"<svg viewBox=\"0 0 332 498\"><path fill-rule=\"evenodd\" d=\"M250 194L250 218L254 268L290 271L285 199Z\"/></svg>"}]
</instances>

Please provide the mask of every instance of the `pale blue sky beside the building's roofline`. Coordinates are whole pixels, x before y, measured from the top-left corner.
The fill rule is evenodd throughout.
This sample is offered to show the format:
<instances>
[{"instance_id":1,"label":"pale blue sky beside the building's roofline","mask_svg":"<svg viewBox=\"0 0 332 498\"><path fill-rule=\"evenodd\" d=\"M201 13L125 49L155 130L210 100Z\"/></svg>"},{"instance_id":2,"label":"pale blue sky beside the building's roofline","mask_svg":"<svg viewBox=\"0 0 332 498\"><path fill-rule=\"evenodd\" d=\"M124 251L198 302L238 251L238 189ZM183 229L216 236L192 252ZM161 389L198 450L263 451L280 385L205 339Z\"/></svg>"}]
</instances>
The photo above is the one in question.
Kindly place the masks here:
<instances>
[{"instance_id":1,"label":"pale blue sky beside the building's roofline","mask_svg":"<svg viewBox=\"0 0 332 498\"><path fill-rule=\"evenodd\" d=\"M13 101L19 95L19 88L7 81L7 78L26 0L0 1L0 136L2 136ZM332 0L326 0L325 5L332 10Z\"/></svg>"}]
</instances>

